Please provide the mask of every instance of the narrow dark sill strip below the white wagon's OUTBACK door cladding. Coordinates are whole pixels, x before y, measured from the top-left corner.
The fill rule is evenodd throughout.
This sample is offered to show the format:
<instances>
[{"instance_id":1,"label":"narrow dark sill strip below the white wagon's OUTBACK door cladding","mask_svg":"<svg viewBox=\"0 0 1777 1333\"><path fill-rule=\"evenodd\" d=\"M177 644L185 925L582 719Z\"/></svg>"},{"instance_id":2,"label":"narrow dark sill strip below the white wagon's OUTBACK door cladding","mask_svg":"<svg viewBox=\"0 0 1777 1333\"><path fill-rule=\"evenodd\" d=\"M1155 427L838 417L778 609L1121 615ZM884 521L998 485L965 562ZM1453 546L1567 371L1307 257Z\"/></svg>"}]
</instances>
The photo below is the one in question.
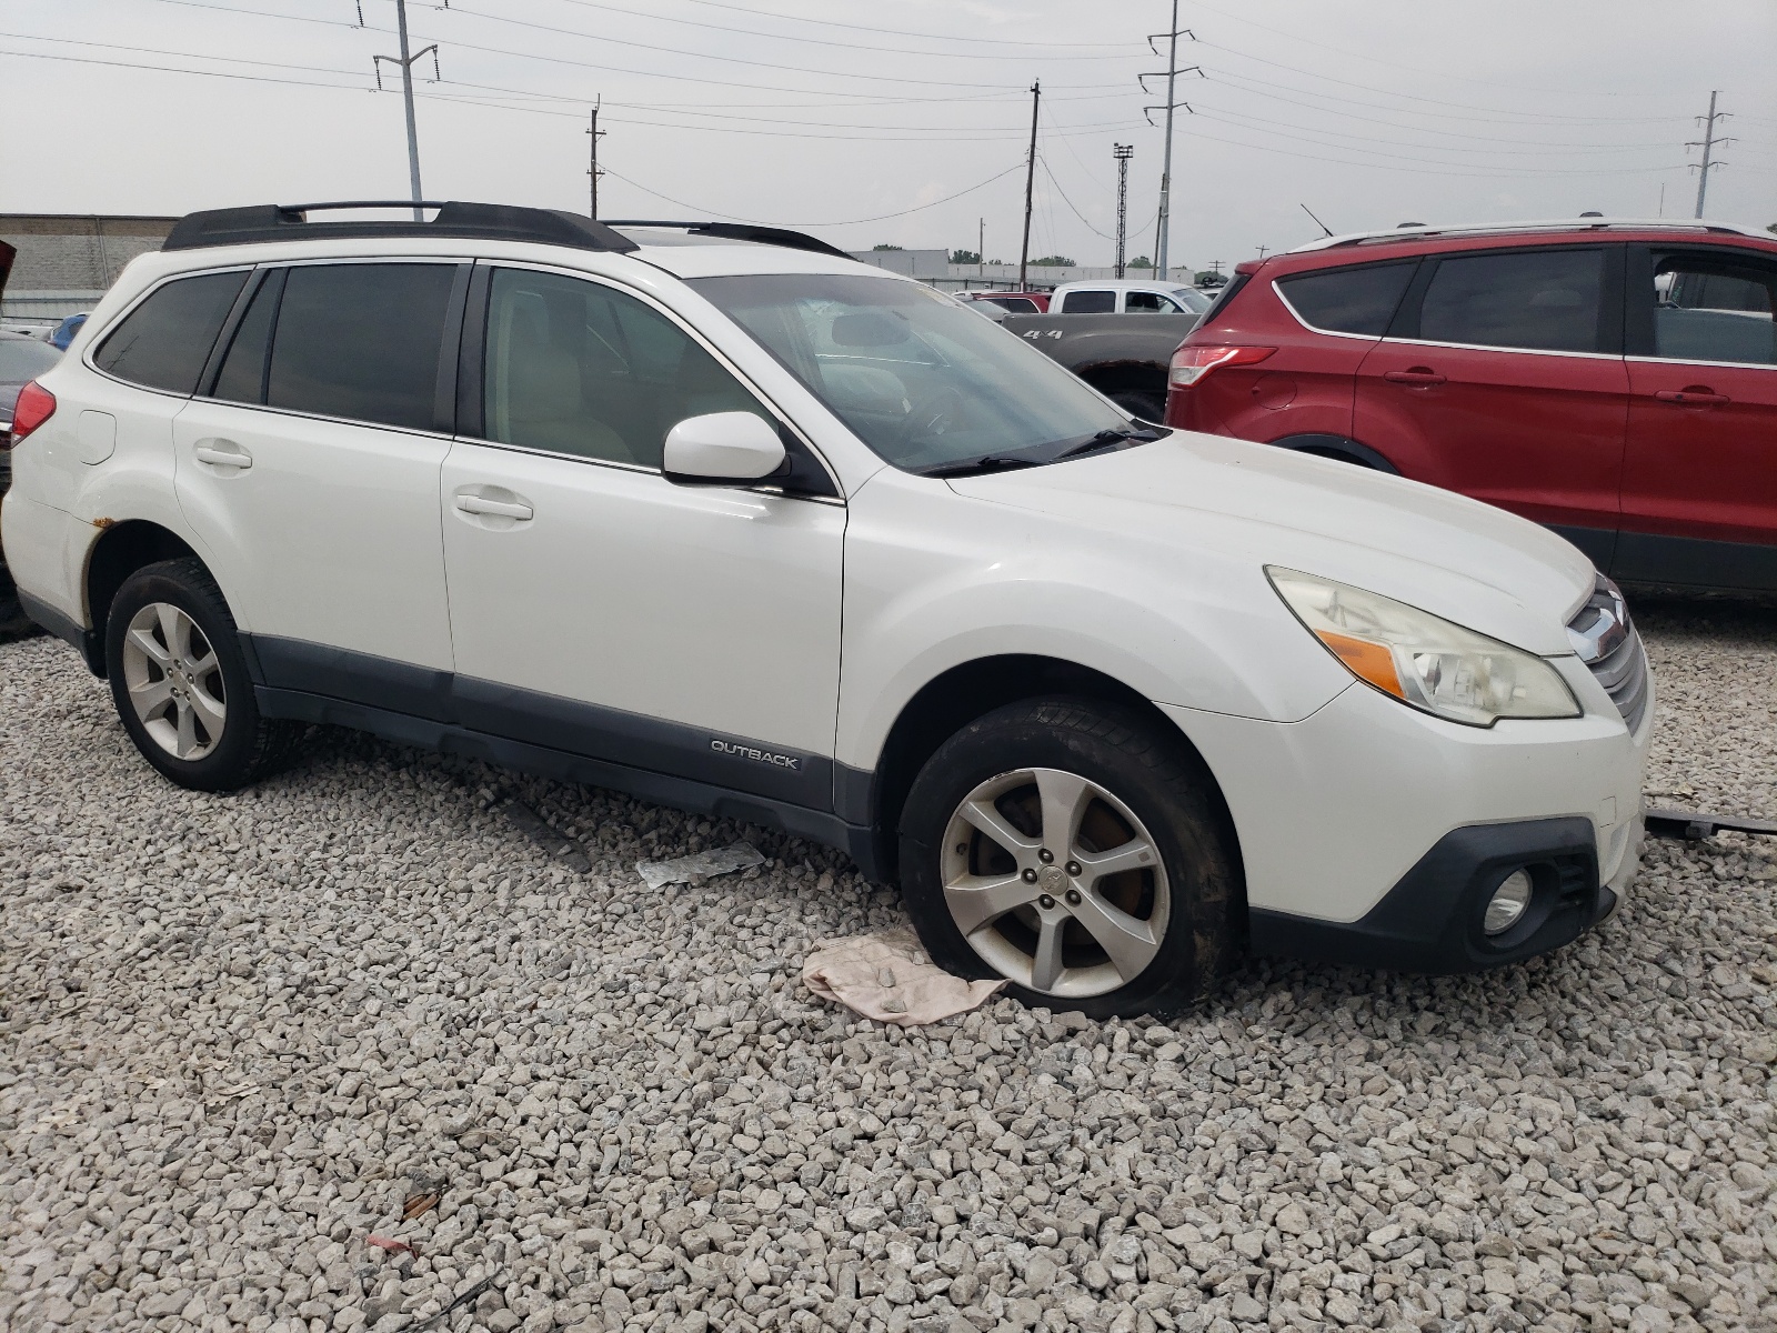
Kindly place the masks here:
<instances>
[{"instance_id":1,"label":"narrow dark sill strip below the white wagon's OUTBACK door cladding","mask_svg":"<svg viewBox=\"0 0 1777 1333\"><path fill-rule=\"evenodd\" d=\"M673 805L695 814L782 828L787 834L839 848L858 864L858 869L867 878L881 878L871 830L862 825L846 823L823 810L810 810L803 805L791 805L789 802L755 796L730 787L631 768L629 764L588 759L544 745L489 736L487 732L469 730L467 727L432 718L416 718L409 713L371 707L368 704L348 704L300 690L258 686L254 688L254 697L259 704L259 713L268 718L352 727L400 745L483 759L501 768L537 773L538 777L551 777L563 782L626 791L641 800Z\"/></svg>"}]
</instances>

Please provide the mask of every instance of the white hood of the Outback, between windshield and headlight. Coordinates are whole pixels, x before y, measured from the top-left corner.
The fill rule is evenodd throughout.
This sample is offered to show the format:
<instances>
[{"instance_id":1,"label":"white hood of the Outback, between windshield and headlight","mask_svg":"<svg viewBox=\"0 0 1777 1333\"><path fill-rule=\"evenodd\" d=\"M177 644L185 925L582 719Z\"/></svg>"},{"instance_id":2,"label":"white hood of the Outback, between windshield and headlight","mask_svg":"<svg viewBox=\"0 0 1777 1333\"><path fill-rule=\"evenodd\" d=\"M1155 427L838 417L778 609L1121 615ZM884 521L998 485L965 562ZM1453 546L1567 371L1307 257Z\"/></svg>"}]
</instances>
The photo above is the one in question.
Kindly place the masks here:
<instances>
[{"instance_id":1,"label":"white hood of the Outback, between windshield and headlight","mask_svg":"<svg viewBox=\"0 0 1777 1333\"><path fill-rule=\"evenodd\" d=\"M1596 579L1574 546L1505 510L1223 435L1173 432L951 487L1102 533L1132 555L1189 553L1198 572L1283 565L1338 579L1544 656L1573 652L1566 622Z\"/></svg>"}]
</instances>

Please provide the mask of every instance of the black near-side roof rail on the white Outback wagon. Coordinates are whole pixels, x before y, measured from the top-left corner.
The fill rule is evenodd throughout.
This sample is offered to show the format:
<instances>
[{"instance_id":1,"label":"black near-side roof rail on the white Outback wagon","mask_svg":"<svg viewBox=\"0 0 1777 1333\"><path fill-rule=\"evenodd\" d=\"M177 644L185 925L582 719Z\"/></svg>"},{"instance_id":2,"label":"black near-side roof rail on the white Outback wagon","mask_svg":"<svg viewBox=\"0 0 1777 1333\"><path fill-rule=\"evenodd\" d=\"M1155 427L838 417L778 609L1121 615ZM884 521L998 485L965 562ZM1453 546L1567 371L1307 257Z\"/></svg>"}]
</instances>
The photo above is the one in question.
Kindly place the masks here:
<instances>
[{"instance_id":1,"label":"black near-side roof rail on the white Outback wagon","mask_svg":"<svg viewBox=\"0 0 1777 1333\"><path fill-rule=\"evenodd\" d=\"M343 219L311 222L309 213L371 208L435 208L430 220ZM521 240L579 251L633 251L636 243L604 222L560 208L467 204L434 199L347 199L323 204L251 204L187 213L174 222L162 249L263 245L281 240L359 240L366 236L441 236L450 240Z\"/></svg>"}]
</instances>

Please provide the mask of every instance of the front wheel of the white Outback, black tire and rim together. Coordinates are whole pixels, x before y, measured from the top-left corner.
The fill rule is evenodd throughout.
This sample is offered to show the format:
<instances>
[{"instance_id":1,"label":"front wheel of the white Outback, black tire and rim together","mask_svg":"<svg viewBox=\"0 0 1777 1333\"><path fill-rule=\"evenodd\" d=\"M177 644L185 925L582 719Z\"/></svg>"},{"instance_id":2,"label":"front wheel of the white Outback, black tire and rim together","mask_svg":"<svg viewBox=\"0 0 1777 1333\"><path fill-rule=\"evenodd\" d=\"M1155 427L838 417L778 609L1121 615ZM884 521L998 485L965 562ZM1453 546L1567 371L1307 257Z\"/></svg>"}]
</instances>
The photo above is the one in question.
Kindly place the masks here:
<instances>
[{"instance_id":1,"label":"front wheel of the white Outback, black tire and rim together","mask_svg":"<svg viewBox=\"0 0 1777 1333\"><path fill-rule=\"evenodd\" d=\"M1011 704L945 741L908 794L901 874L931 958L1025 1004L1176 1013L1240 946L1214 780L1182 739L1096 700Z\"/></svg>"}]
</instances>

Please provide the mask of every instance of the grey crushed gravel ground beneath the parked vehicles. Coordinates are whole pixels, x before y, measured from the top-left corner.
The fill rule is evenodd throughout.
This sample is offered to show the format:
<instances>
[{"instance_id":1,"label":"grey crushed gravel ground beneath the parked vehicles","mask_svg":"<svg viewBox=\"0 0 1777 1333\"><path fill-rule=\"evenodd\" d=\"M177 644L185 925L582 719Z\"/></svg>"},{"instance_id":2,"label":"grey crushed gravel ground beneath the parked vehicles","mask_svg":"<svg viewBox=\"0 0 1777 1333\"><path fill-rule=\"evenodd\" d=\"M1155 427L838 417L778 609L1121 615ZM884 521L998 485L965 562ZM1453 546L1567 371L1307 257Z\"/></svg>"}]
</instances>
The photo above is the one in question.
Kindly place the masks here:
<instances>
[{"instance_id":1,"label":"grey crushed gravel ground beneath the parked vehicles","mask_svg":"<svg viewBox=\"0 0 1777 1333\"><path fill-rule=\"evenodd\" d=\"M1644 627L1649 789L1777 816L1777 611ZM185 793L0 666L0 1328L1777 1328L1770 841L1480 979L901 1033L798 985L901 919L833 853L345 732Z\"/></svg>"}]
</instances>

